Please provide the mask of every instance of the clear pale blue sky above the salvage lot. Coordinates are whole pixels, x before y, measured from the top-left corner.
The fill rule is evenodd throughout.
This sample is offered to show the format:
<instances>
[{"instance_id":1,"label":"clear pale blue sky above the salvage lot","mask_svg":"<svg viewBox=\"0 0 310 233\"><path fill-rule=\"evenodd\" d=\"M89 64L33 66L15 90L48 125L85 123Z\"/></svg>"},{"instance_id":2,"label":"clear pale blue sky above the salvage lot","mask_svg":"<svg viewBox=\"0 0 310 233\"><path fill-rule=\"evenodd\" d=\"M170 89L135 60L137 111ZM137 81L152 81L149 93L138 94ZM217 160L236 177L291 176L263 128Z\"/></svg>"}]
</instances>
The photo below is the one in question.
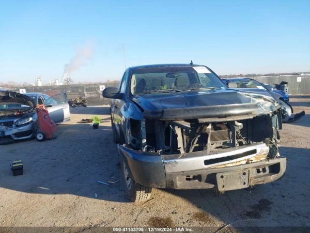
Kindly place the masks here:
<instances>
[{"instance_id":1,"label":"clear pale blue sky above the salvage lot","mask_svg":"<svg viewBox=\"0 0 310 233\"><path fill-rule=\"evenodd\" d=\"M217 74L310 71L310 0L0 0L0 82L120 79L126 66L203 64Z\"/></svg>"}]
</instances>

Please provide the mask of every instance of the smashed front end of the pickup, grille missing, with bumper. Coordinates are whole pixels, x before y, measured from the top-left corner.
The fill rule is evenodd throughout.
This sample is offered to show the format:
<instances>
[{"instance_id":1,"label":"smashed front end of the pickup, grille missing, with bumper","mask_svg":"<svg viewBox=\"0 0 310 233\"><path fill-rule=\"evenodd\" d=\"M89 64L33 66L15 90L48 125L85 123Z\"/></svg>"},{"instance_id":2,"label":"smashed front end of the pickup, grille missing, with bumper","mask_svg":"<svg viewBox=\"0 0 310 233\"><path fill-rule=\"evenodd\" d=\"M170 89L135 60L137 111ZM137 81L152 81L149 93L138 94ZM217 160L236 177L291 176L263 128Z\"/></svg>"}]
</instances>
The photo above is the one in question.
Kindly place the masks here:
<instances>
[{"instance_id":1,"label":"smashed front end of the pickup, grille missing, with bumper","mask_svg":"<svg viewBox=\"0 0 310 233\"><path fill-rule=\"evenodd\" d=\"M286 168L278 150L282 107L264 95L242 95L247 103L148 110L130 118L118 148L131 177L150 187L219 191L279 179Z\"/></svg>"}]
</instances>

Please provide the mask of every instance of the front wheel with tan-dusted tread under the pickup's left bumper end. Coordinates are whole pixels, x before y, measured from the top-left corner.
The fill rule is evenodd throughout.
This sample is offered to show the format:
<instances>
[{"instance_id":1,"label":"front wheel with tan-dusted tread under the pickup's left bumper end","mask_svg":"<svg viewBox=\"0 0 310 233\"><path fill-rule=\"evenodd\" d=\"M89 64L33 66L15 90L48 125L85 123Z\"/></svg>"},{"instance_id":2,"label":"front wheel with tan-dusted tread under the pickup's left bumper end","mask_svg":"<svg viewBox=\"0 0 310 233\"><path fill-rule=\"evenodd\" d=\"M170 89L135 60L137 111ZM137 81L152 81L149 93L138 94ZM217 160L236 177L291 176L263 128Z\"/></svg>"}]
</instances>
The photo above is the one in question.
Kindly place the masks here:
<instances>
[{"instance_id":1,"label":"front wheel with tan-dusted tread under the pickup's left bumper end","mask_svg":"<svg viewBox=\"0 0 310 233\"><path fill-rule=\"evenodd\" d=\"M129 177L128 169L124 160L121 160L122 181L124 183L124 191L132 202L142 203L151 198L152 187L146 187L140 183L136 183Z\"/></svg>"}]
</instances>

